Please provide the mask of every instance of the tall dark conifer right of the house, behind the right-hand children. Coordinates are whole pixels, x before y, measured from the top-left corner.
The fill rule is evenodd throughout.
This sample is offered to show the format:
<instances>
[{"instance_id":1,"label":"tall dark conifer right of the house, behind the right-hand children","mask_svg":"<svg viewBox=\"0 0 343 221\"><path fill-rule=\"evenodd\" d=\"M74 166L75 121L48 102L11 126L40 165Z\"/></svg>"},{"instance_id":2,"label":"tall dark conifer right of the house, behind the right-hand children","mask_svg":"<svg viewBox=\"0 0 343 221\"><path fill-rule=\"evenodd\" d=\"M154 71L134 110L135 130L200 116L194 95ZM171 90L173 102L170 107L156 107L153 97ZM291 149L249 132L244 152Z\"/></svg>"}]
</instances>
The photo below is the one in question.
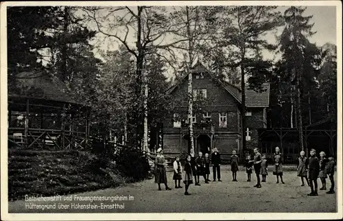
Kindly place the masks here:
<instances>
[{"instance_id":1,"label":"tall dark conifer right of the house, behind the right-hand children","mask_svg":"<svg viewBox=\"0 0 343 221\"><path fill-rule=\"evenodd\" d=\"M296 85L296 113L299 131L299 143L301 150L303 143L303 114L301 112L301 88L303 86L302 75L305 71L304 50L309 47L309 36L315 34L311 29L314 24L309 24L312 16L303 16L306 8L290 7L285 11L285 29L280 36L280 48L282 59L287 64L287 75ZM307 150L305 150L307 153ZM308 154L308 153L307 153Z\"/></svg>"}]
</instances>

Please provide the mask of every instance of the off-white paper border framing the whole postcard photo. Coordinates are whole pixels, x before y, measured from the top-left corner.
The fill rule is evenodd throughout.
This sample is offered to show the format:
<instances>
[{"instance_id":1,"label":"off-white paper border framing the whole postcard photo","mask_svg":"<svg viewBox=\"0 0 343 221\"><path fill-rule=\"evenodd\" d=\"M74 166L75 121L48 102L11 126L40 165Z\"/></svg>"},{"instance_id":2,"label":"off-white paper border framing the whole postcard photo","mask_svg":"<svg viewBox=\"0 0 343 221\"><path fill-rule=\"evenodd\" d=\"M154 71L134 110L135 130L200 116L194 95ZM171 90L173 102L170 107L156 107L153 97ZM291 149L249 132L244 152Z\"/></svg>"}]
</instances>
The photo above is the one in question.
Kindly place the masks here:
<instances>
[{"instance_id":1,"label":"off-white paper border framing the whole postcard photo","mask_svg":"<svg viewBox=\"0 0 343 221\"><path fill-rule=\"evenodd\" d=\"M338 213L8 213L6 7L15 5L304 5L336 6L338 49ZM340 1L14 1L1 3L1 220L320 220L342 219L342 5ZM325 18L322 18L325 19ZM323 202L324 203L324 202ZM101 215L100 215L101 214Z\"/></svg>"}]
</instances>

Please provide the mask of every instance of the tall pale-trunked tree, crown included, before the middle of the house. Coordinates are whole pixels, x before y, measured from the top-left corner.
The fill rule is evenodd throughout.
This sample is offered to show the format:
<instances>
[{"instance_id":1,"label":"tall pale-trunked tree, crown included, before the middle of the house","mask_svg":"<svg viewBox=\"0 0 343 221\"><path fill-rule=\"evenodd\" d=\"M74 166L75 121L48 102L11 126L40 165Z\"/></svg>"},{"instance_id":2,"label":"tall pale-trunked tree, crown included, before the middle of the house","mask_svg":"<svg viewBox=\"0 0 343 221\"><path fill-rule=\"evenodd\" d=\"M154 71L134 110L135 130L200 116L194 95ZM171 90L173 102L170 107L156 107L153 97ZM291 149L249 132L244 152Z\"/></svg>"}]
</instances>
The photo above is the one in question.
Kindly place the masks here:
<instances>
[{"instance_id":1,"label":"tall pale-trunked tree, crown included, before the middle of the house","mask_svg":"<svg viewBox=\"0 0 343 221\"><path fill-rule=\"evenodd\" d=\"M194 138L193 138L193 89L191 68L196 59L199 58L200 45L206 40L213 39L215 34L215 21L220 7L203 7L203 6L185 6L174 8L171 13L171 21L174 25L172 34L175 43L169 45L173 49L182 52L184 58L183 67L188 75L188 121L189 121L189 139L190 153L193 155ZM158 47L163 48L163 47Z\"/></svg>"}]
</instances>

